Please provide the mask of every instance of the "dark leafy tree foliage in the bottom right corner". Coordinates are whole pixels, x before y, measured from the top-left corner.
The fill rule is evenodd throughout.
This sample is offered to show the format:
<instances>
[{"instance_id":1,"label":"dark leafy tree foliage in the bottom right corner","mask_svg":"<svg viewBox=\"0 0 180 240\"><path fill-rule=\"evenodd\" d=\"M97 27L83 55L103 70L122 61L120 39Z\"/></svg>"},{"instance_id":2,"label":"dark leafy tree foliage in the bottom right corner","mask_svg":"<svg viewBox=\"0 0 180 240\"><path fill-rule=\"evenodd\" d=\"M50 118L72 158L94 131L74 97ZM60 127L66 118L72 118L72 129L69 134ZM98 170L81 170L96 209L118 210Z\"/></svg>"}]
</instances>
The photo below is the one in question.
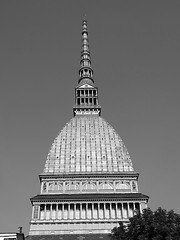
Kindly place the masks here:
<instances>
[{"instance_id":1,"label":"dark leafy tree foliage in the bottom right corner","mask_svg":"<svg viewBox=\"0 0 180 240\"><path fill-rule=\"evenodd\" d=\"M113 228L113 240L180 240L180 215L174 211L158 208L143 210L124 225Z\"/></svg>"}]
</instances>

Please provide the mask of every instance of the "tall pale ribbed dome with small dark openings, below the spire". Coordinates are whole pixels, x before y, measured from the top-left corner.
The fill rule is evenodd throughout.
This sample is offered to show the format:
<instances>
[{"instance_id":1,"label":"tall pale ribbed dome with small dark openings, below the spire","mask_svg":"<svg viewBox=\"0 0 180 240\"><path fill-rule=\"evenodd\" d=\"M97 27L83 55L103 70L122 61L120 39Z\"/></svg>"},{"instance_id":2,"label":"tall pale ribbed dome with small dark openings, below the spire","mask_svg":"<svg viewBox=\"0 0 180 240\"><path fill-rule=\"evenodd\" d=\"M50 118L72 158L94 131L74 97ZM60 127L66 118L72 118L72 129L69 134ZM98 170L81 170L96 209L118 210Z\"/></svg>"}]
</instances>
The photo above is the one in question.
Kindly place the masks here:
<instances>
[{"instance_id":1,"label":"tall pale ribbed dome with small dark openings, below the spire","mask_svg":"<svg viewBox=\"0 0 180 240\"><path fill-rule=\"evenodd\" d=\"M119 135L99 116L77 116L55 138L44 173L132 172L130 155Z\"/></svg>"}]
</instances>

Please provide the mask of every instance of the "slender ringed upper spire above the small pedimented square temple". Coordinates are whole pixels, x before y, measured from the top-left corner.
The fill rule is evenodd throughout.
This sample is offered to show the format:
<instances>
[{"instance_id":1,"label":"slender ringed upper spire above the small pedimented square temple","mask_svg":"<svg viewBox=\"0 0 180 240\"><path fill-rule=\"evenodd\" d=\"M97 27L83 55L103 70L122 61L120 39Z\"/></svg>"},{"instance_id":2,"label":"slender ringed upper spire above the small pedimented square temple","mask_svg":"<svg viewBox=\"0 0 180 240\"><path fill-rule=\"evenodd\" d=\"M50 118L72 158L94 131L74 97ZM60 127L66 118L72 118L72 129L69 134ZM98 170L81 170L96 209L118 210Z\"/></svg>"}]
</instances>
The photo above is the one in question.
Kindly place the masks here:
<instances>
[{"instance_id":1,"label":"slender ringed upper spire above the small pedimented square temple","mask_svg":"<svg viewBox=\"0 0 180 240\"><path fill-rule=\"evenodd\" d=\"M88 78L89 81L93 80L93 70L91 68L91 55L89 50L89 41L88 41L88 29L87 29L87 20L86 15L84 16L82 22L82 46L81 46L81 60L80 60L80 69L79 69L79 83L82 79Z\"/></svg>"}]
</instances>

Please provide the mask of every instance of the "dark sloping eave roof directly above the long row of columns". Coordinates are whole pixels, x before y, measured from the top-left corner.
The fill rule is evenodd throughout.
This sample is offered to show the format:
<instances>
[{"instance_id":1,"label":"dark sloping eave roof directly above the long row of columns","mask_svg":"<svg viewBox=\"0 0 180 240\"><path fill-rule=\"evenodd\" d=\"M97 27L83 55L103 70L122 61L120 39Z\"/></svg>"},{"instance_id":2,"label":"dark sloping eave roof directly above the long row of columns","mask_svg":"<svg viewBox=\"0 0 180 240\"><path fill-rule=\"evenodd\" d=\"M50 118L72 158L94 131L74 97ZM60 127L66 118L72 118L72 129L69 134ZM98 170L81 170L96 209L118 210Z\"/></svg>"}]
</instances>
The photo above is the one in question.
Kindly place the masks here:
<instances>
[{"instance_id":1,"label":"dark sloping eave roof directly above the long row of columns","mask_svg":"<svg viewBox=\"0 0 180 240\"><path fill-rule=\"evenodd\" d=\"M142 194L142 193L91 193L91 194L40 194L36 195L35 197L31 198L31 201L41 201L43 199L50 199L50 200L93 200L93 199L149 199L148 196Z\"/></svg>"}]
</instances>

